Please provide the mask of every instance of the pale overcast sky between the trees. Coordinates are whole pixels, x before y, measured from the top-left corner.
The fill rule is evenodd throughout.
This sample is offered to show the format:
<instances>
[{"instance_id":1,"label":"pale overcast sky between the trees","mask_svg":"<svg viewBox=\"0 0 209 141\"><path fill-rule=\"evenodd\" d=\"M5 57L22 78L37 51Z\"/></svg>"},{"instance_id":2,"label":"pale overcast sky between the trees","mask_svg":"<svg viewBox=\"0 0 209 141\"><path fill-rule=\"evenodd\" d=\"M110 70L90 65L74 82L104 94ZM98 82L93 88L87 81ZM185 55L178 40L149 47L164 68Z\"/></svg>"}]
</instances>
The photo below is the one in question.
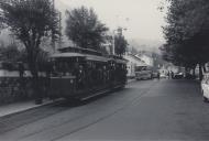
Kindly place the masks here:
<instances>
[{"instance_id":1,"label":"pale overcast sky between the trees","mask_svg":"<svg viewBox=\"0 0 209 141\"><path fill-rule=\"evenodd\" d=\"M94 8L99 20L110 30L123 26L127 39L164 41L164 13L157 10L164 0L57 0L70 9Z\"/></svg>"}]
</instances>

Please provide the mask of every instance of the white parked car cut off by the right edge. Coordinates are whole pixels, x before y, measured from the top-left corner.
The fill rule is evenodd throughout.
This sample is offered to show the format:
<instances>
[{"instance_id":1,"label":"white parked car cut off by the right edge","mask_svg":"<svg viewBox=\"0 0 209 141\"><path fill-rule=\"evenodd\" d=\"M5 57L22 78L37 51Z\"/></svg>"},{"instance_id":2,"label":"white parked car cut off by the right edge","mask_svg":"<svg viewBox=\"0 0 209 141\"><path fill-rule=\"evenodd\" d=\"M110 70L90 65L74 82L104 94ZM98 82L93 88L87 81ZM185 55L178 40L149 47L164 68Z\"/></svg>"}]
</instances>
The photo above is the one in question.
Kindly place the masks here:
<instances>
[{"instance_id":1,"label":"white parked car cut off by the right edge","mask_svg":"<svg viewBox=\"0 0 209 141\"><path fill-rule=\"evenodd\" d=\"M201 94L204 101L209 101L209 74L205 74L201 80Z\"/></svg>"}]
</instances>

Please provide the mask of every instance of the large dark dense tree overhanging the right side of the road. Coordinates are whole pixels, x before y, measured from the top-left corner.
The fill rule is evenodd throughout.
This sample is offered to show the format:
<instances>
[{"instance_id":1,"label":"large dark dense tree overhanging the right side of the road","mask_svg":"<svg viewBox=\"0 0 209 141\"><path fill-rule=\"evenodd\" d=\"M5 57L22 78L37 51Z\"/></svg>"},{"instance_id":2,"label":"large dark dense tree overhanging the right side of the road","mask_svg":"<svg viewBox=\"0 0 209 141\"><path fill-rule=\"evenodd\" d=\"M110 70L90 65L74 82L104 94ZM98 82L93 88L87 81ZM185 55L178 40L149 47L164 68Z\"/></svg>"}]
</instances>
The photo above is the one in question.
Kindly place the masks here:
<instances>
[{"instance_id":1,"label":"large dark dense tree overhanging the right side of the road","mask_svg":"<svg viewBox=\"0 0 209 141\"><path fill-rule=\"evenodd\" d=\"M201 72L201 66L209 61L209 1L167 1L170 4L168 24L164 26L164 57L185 67L199 64Z\"/></svg>"}]
</instances>

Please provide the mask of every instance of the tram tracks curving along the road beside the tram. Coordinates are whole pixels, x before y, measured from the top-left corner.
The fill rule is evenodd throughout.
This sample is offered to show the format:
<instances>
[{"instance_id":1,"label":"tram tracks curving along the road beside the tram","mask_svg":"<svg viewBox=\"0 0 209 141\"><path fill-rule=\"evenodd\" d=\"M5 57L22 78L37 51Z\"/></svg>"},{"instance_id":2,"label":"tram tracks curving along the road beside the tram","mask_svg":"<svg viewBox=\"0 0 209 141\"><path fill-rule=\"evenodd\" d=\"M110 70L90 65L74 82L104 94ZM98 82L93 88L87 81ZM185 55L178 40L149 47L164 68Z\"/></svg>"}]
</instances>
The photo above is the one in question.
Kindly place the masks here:
<instances>
[{"instance_id":1,"label":"tram tracks curving along the road beside the tram","mask_svg":"<svg viewBox=\"0 0 209 141\"><path fill-rule=\"evenodd\" d=\"M44 132L44 131L51 131L51 130L56 130L57 128L58 129L61 129L62 127L65 127L66 124L74 124L74 122L80 122L80 121L84 121L85 119L89 119L88 120L88 122L86 122L86 123L84 123L84 124L81 124L81 126L78 126L78 127L75 127L74 129L72 129L70 131L68 131L68 132L66 132L66 133L61 133L58 137L56 137L56 138L53 138L52 139L52 141L54 141L54 140L58 140L58 139L62 139L63 137L65 137L65 135L70 135L70 134L73 134L73 133L75 133L75 132L78 132L78 131L80 131L80 130L84 130L84 129L86 129L86 128L88 128L88 127L90 127L90 126L94 126L94 124L96 124L96 123L98 123L98 122L100 122L100 121L102 121L102 120L106 120L106 119L108 119L108 118L110 118L110 117L112 117L112 116L114 116L114 115L117 115L118 112L120 112L121 110L124 110L124 109L127 109L127 108L129 108L130 106L132 106L133 104L135 104L135 102L139 102L139 100L141 99L141 97L143 97L146 93L148 93L148 90L155 85L156 83L155 82L152 82L152 84L147 87L147 88L145 88L143 91L141 91L140 94L141 95L136 95L136 97L132 97L131 98L131 100L129 100L129 101L127 101L125 104L123 104L122 106L119 106L119 107L117 107L117 108L114 108L113 110L111 110L111 111L108 111L108 113L103 113L103 112L101 112L102 111L102 108L101 108L101 110L98 110L98 109L92 109L92 110L90 110L90 111L88 111L88 112L82 112L81 115L80 113L78 113L78 116L75 116L75 117L70 117L70 119L68 119L68 120L65 120L65 121L63 121L63 122L61 122L61 123L57 123L57 124L53 124L53 126L46 126L45 128L43 128L42 130L38 130L38 131L35 131L35 132L32 132L32 133L29 133L29 134L24 134L24 135L21 135L21 137L19 137L18 138L18 140L23 140L23 139L30 139L30 137L35 137L36 134L42 134L42 132ZM112 94L110 94L110 95L112 95ZM100 99L99 99L100 100ZM102 99L101 99L102 100ZM97 102L97 101L96 101ZM92 105L91 104L91 101L90 101L90 104L87 104L87 105L85 105L84 107L87 107L88 109L91 109L91 108L94 108L95 107L95 105ZM50 107L51 108L51 107ZM62 108L61 108L62 109ZM43 116L42 118L38 118L38 119L36 119L36 120L34 120L34 121L32 121L32 122L28 122L26 124L20 124L20 126L18 126L18 127L14 127L14 128L12 128L11 130L14 130L15 128L24 128L24 127L28 127L29 124L32 124L33 122L37 122L38 120L43 120L43 119L45 119L45 118L47 118L47 117L51 117L51 116L58 116L58 115L62 115L62 113L67 113L67 112L70 112L70 110L73 110L74 108L70 108L69 109L69 107L64 107L62 110L57 110L57 112L56 113L54 113L54 115L47 115L47 116ZM82 109L82 108L81 108ZM85 109L86 108L84 108L82 110L85 111ZM35 113L35 112L34 112ZM68 115L70 115L70 113L68 113ZM99 115L99 116L98 116ZM96 116L96 119L94 119L94 120L91 120L90 119L90 117L94 117L94 116ZM11 131L10 130L10 131Z\"/></svg>"}]
</instances>

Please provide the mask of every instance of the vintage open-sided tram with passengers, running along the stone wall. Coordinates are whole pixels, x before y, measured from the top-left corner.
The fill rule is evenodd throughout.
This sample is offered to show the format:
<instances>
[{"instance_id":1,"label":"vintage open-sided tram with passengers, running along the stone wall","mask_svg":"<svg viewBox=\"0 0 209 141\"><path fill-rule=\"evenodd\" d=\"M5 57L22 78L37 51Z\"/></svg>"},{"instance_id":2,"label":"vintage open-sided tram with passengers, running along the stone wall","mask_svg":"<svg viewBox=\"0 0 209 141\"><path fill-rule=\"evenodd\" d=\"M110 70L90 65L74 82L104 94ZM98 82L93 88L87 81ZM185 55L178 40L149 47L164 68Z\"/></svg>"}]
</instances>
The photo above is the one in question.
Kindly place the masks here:
<instances>
[{"instance_id":1,"label":"vintage open-sided tram with passengers, running along the stone wall","mask_svg":"<svg viewBox=\"0 0 209 141\"><path fill-rule=\"evenodd\" d=\"M64 47L51 59L51 98L86 100L123 88L127 84L127 61L119 56L103 56L88 48Z\"/></svg>"}]
</instances>

